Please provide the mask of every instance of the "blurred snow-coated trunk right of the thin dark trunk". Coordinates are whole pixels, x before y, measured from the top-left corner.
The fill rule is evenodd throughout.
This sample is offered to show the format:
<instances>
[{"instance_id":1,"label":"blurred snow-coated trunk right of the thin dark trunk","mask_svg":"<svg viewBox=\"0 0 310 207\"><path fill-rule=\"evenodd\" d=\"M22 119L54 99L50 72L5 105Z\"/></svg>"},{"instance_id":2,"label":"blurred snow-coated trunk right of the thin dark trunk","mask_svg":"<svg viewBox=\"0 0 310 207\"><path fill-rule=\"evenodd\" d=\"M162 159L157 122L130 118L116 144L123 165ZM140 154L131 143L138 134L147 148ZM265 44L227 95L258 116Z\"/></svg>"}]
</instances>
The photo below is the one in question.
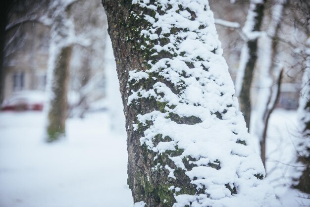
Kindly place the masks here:
<instances>
[{"instance_id":1,"label":"blurred snow-coated trunk right of the thin dark trunk","mask_svg":"<svg viewBox=\"0 0 310 207\"><path fill-rule=\"evenodd\" d=\"M278 64L278 35L282 20L282 11L285 0L275 2L270 10L271 15L265 15L268 21L266 32L258 40L258 79L256 96L256 120L252 120L253 129L250 131L258 137L260 144L260 156L265 166L266 137L269 117L279 97L280 83L282 78L281 65ZM251 121L251 122L252 122Z\"/></svg>"}]
</instances>

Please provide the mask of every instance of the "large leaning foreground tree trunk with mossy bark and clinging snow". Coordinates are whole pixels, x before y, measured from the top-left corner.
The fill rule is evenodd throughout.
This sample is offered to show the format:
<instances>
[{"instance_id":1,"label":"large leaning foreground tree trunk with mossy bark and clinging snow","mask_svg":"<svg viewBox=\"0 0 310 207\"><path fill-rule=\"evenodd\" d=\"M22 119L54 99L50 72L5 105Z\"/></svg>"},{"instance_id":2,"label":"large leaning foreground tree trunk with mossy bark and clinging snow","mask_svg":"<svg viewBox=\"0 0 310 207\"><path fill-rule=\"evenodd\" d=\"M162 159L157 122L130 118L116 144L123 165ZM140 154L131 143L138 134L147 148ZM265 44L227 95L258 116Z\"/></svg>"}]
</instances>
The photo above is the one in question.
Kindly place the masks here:
<instances>
[{"instance_id":1,"label":"large leaning foreground tree trunk with mossy bark and clinging snow","mask_svg":"<svg viewBox=\"0 0 310 207\"><path fill-rule=\"evenodd\" d=\"M136 206L277 206L207 0L105 0Z\"/></svg>"}]
</instances>

